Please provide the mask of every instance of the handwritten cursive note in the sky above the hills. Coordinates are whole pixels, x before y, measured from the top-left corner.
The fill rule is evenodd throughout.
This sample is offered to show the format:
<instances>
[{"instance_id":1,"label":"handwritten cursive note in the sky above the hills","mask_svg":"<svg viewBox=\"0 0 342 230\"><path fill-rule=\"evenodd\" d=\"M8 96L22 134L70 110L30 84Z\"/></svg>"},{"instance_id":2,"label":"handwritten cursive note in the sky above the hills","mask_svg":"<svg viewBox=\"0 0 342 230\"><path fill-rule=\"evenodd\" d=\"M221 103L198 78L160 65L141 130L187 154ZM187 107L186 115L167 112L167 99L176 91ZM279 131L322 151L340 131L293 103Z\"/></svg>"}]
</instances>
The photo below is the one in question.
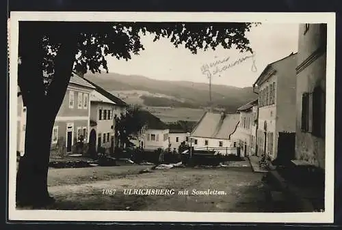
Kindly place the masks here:
<instances>
[{"instance_id":1,"label":"handwritten cursive note in the sky above the hills","mask_svg":"<svg viewBox=\"0 0 342 230\"><path fill-rule=\"evenodd\" d=\"M205 74L208 78L210 78L213 75L220 75L222 72L233 68L240 63L243 63L247 59L252 59L252 67L250 70L252 72L257 72L257 66L255 65L255 53L253 53L252 55L246 55L236 60L231 60L231 57L226 57L224 59L215 59L215 61L203 65L200 70L202 71L202 74Z\"/></svg>"}]
</instances>

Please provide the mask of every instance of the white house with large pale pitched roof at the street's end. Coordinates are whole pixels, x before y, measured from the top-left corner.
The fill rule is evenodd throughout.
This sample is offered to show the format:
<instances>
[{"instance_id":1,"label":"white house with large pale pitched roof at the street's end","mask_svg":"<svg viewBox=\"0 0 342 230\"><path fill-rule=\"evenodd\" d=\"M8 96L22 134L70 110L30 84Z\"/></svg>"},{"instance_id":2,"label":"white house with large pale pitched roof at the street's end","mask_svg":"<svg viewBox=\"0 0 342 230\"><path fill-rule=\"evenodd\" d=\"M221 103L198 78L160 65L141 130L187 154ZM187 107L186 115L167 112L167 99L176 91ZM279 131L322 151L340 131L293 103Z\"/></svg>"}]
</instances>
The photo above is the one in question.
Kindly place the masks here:
<instances>
[{"instance_id":1,"label":"white house with large pale pitched roof at the street's end","mask_svg":"<svg viewBox=\"0 0 342 230\"><path fill-rule=\"evenodd\" d=\"M232 135L238 124L239 114L206 112L190 134L191 145L194 149L215 148L220 154L237 154Z\"/></svg>"}]
</instances>

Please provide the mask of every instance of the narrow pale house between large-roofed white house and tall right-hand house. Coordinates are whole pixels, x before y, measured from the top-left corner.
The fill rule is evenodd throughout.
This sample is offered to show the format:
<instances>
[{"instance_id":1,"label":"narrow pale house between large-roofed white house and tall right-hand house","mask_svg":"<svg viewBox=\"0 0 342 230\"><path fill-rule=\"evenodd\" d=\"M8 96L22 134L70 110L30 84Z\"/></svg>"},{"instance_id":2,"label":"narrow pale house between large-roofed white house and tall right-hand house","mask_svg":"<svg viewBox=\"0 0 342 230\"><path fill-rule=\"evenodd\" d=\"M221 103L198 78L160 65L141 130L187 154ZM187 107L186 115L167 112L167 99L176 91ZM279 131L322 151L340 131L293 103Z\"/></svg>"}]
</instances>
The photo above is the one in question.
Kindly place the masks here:
<instances>
[{"instance_id":1,"label":"narrow pale house between large-roofed white house and tall right-hand house","mask_svg":"<svg viewBox=\"0 0 342 230\"><path fill-rule=\"evenodd\" d=\"M255 140L257 132L257 106L258 100L252 100L239 107L239 125L233 134L234 147L240 147L244 156L255 154Z\"/></svg>"}]
</instances>

